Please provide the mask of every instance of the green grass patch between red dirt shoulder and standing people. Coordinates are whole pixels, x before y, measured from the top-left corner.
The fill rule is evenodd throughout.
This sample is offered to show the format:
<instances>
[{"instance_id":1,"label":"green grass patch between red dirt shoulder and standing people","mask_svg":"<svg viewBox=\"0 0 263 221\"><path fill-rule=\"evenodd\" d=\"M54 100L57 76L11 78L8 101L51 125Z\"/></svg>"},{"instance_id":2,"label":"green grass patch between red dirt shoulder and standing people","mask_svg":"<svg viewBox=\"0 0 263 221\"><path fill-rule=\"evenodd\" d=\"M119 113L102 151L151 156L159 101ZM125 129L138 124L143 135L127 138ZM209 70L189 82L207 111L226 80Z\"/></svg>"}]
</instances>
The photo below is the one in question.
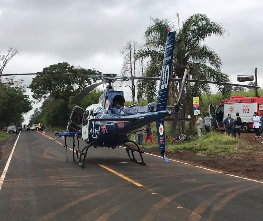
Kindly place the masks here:
<instances>
[{"instance_id":1,"label":"green grass patch between red dirt shoulder and standing people","mask_svg":"<svg viewBox=\"0 0 263 221\"><path fill-rule=\"evenodd\" d=\"M193 141L179 142L174 145L168 144L166 145L166 150L171 153L178 151L196 151L197 153L195 155L198 156L205 156L207 154L229 155L237 154L239 150L243 149L244 145L247 144L244 143L244 141L241 142L238 138L211 132Z\"/></svg>"}]
</instances>

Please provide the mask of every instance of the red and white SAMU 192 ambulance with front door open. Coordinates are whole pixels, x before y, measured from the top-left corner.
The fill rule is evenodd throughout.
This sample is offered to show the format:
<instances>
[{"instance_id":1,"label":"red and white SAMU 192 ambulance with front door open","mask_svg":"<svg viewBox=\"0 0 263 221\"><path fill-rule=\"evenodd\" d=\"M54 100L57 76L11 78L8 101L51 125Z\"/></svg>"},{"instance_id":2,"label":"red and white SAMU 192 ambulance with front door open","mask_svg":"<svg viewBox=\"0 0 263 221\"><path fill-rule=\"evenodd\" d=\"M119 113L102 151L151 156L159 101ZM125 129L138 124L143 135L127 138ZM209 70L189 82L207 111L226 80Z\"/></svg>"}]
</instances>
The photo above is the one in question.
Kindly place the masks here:
<instances>
[{"instance_id":1,"label":"red and white SAMU 192 ambulance with front door open","mask_svg":"<svg viewBox=\"0 0 263 221\"><path fill-rule=\"evenodd\" d=\"M216 109L211 104L208 108L208 112L214 118L211 122L211 126L214 128L223 128L223 122L227 115L231 114L232 118L234 118L236 113L239 112L239 117L242 120L241 128L245 133L253 129L252 119L254 112L257 112L261 117L262 110L263 96L244 97L242 95L231 96L222 100Z\"/></svg>"}]
</instances>

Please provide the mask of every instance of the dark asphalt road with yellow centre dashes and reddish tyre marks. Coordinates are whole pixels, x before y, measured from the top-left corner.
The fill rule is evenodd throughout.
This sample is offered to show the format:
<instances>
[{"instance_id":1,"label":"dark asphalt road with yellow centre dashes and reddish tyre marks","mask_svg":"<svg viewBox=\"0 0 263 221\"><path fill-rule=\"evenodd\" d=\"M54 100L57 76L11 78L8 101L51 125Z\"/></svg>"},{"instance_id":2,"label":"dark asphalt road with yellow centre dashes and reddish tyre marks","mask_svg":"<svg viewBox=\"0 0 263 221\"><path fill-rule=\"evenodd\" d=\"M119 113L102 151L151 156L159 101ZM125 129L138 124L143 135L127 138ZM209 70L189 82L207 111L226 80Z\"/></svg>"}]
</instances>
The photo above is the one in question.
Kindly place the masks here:
<instances>
[{"instance_id":1,"label":"dark asphalt road with yellow centre dashes and reddish tyre marks","mask_svg":"<svg viewBox=\"0 0 263 221\"><path fill-rule=\"evenodd\" d=\"M262 220L260 182L175 161L167 165L146 153L144 167L124 148L91 148L81 169L71 150L66 163L64 140L45 132L12 135L3 150L1 178L14 153L0 180L1 221Z\"/></svg>"}]
</instances>

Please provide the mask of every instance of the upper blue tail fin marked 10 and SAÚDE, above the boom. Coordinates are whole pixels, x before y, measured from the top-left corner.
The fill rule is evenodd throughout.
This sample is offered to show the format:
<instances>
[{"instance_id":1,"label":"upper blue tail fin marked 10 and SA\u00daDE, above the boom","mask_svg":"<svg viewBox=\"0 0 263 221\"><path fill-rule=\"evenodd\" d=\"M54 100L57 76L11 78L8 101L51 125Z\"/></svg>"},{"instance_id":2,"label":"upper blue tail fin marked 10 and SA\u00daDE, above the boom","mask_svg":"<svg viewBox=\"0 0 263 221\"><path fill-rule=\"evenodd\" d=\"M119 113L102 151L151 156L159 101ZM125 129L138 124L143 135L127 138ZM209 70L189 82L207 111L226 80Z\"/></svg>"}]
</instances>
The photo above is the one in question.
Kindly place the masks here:
<instances>
[{"instance_id":1,"label":"upper blue tail fin marked 10 and SA\u00daDE, above the boom","mask_svg":"<svg viewBox=\"0 0 263 221\"><path fill-rule=\"evenodd\" d=\"M163 57L163 66L160 79L159 92L157 97L157 110L166 110L169 91L171 67L174 55L175 31L167 34L165 53Z\"/></svg>"}]
</instances>

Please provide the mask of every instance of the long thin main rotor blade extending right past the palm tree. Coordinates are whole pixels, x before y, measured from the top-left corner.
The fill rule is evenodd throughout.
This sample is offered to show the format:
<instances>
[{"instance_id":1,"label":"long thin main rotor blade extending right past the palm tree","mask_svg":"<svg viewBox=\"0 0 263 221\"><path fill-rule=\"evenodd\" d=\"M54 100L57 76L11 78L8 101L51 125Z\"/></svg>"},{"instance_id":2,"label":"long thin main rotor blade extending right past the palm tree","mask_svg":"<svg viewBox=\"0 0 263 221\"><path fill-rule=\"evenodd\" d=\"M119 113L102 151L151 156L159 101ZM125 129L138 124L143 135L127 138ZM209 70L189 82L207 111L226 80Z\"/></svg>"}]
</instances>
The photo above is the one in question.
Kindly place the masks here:
<instances>
[{"instance_id":1,"label":"long thin main rotor blade extending right past the palm tree","mask_svg":"<svg viewBox=\"0 0 263 221\"><path fill-rule=\"evenodd\" d=\"M148 81L160 81L159 77L127 77L127 79L131 80L148 80ZM170 78L171 81L182 81L182 78ZM250 86L244 84L234 84L234 83L224 83L218 81L203 81L203 80L196 80L196 79L185 79L185 81L190 82L197 82L197 83L208 83L208 84L219 84L219 85L232 85L232 86L239 86L239 87L251 87L251 88L260 88L259 86Z\"/></svg>"}]
</instances>

